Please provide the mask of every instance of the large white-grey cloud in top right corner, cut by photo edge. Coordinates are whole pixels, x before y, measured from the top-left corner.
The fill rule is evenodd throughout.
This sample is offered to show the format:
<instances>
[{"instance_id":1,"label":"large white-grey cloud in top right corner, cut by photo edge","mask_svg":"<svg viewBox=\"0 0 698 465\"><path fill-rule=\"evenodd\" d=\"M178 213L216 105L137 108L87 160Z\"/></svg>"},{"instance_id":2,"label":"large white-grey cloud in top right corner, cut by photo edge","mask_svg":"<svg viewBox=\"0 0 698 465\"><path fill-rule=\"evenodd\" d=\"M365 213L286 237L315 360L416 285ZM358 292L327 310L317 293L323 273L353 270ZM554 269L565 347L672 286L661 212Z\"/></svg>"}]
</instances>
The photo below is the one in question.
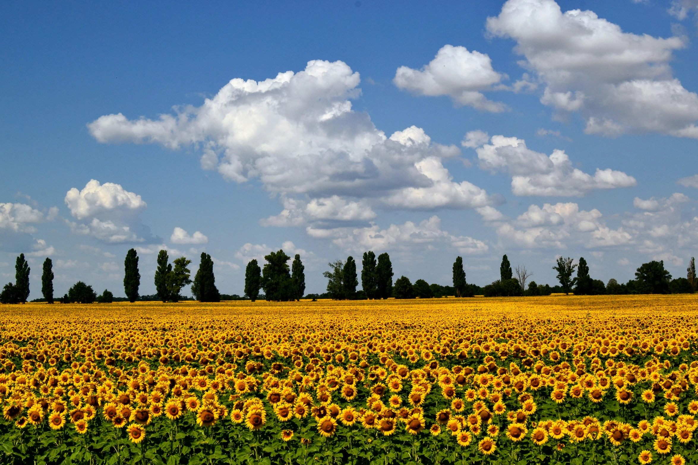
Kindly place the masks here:
<instances>
[{"instance_id":1,"label":"large white-grey cloud in top right corner, cut by photo edge","mask_svg":"<svg viewBox=\"0 0 698 465\"><path fill-rule=\"evenodd\" d=\"M579 112L586 133L698 138L698 95L669 66L683 38L626 33L590 10L563 13L553 0L509 0L487 31L516 40L522 66L544 84L540 101L559 119Z\"/></svg>"}]
</instances>

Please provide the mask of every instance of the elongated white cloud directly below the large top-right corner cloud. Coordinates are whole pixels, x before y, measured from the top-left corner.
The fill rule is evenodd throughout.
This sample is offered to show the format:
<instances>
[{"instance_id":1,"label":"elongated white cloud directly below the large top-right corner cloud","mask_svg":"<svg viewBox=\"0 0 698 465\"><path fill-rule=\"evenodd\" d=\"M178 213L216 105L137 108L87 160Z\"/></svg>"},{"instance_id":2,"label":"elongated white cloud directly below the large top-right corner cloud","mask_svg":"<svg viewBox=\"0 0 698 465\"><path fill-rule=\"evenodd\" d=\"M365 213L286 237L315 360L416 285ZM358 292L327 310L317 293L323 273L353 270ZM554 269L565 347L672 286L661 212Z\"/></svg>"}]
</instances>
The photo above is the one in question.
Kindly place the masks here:
<instances>
[{"instance_id":1,"label":"elongated white cloud directly below the large top-right corner cloud","mask_svg":"<svg viewBox=\"0 0 698 465\"><path fill-rule=\"evenodd\" d=\"M572 167L564 151L545 155L526 147L517 137L492 136L490 144L482 131L468 132L463 144L475 148L480 168L504 171L512 176L514 195L578 196L595 189L626 188L637 181L623 171L596 169L594 176ZM476 144L480 144L477 146Z\"/></svg>"}]
</instances>

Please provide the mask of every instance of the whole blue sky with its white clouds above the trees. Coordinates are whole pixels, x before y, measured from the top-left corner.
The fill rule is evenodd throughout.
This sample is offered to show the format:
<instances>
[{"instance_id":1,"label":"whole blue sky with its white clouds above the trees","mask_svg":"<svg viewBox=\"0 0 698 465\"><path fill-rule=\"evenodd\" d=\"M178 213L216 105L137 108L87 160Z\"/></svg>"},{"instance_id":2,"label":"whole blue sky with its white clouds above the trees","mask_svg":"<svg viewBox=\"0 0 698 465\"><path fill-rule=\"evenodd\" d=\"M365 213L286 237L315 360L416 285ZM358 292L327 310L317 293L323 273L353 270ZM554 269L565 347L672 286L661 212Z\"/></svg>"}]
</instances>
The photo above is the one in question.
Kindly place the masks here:
<instances>
[{"instance_id":1,"label":"whole blue sky with its white clouds above the trees","mask_svg":"<svg viewBox=\"0 0 698 465\"><path fill-rule=\"evenodd\" d=\"M651 259L684 275L697 10L7 4L0 275L30 254L39 297L50 256L57 294L84 280L123 295L135 247L151 294L158 250L206 251L221 292L242 294L246 262L282 246L315 292L327 261L365 250L441 284L456 255L487 284L504 253L550 284L559 255L604 282Z\"/></svg>"}]
</instances>

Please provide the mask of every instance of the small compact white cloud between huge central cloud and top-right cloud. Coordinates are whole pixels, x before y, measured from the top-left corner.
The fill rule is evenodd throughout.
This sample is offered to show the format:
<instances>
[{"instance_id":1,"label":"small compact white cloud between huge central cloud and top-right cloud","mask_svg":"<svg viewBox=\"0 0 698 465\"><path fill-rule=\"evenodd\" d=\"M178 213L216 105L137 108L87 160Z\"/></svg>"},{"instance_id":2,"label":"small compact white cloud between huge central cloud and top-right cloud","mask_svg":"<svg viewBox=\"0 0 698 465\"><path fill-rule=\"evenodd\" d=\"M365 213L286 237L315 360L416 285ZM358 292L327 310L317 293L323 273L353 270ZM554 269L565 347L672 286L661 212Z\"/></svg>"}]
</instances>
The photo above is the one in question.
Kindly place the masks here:
<instances>
[{"instance_id":1,"label":"small compact white cloud between huge central cloud and top-right cloud","mask_svg":"<svg viewBox=\"0 0 698 465\"><path fill-rule=\"evenodd\" d=\"M485 112L503 112L507 106L492 102L482 91L493 90L507 76L492 69L487 56L466 47L444 45L421 70L397 68L394 84L423 96L450 96L456 105L467 105Z\"/></svg>"}]
</instances>

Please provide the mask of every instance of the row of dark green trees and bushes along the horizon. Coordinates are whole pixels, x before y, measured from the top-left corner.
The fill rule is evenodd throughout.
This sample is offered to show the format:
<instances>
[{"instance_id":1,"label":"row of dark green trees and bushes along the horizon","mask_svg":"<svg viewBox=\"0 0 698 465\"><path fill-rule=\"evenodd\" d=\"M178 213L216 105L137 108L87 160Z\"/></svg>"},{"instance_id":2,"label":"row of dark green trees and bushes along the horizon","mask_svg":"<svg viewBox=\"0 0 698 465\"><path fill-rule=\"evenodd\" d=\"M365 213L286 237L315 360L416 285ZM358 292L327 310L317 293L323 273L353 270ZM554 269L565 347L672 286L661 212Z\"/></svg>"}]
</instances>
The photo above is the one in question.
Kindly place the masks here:
<instances>
[{"instance_id":1,"label":"row of dark green trees and bushes along the horizon","mask_svg":"<svg viewBox=\"0 0 698 465\"><path fill-rule=\"evenodd\" d=\"M537 284L529 278L533 273L526 266L519 265L512 270L507 255L502 257L500 264L500 279L480 287L466 282L463 270L463 258L456 257L452 266L452 286L429 284L425 280L416 280L414 284L406 276L401 276L393 282L394 272L392 262L387 252L378 255L369 250L362 258L361 289L359 273L354 257L346 260L336 260L328 264L329 270L322 273L327 278L327 291L323 294L305 295L305 266L299 254L296 254L291 266L290 257L279 250L265 256L263 267L253 259L245 269L244 297L220 294L216 288L214 262L211 256L202 252L197 273L191 280L191 270L188 266L191 260L178 257L170 263L166 250L161 250L157 257L157 268L154 284L154 296L140 296L140 272L138 270L138 253L135 249L128 250L124 259L124 294L126 298L114 298L111 291L105 289L97 295L88 284L78 281L68 293L58 300L61 303L111 303L128 300L162 300L163 302L179 302L189 300L181 296L181 290L191 284L194 300L200 302L219 302L223 300L239 300L248 298L253 302L258 298L284 302L300 300L301 298L332 298L336 300L365 300L386 298L439 298L455 297L516 297L516 296L549 296L550 294L599 295L599 294L690 294L698 290L695 258L691 257L686 270L686 277L672 279L671 273L664 268L664 261L649 261L642 264L635 272L634 280L619 284L611 278L607 284L595 280L589 274L589 266L580 257L577 263L571 257L558 257L553 269L557 272L559 284ZM41 293L43 298L34 301L54 303L53 263L50 258L43 263L41 276ZM577 275L574 276L575 270ZM29 298L29 273L31 268L20 254L15 262L15 282L8 283L0 293L0 303L26 303ZM528 287L526 283L528 282ZM263 290L265 294L260 294Z\"/></svg>"}]
</instances>

